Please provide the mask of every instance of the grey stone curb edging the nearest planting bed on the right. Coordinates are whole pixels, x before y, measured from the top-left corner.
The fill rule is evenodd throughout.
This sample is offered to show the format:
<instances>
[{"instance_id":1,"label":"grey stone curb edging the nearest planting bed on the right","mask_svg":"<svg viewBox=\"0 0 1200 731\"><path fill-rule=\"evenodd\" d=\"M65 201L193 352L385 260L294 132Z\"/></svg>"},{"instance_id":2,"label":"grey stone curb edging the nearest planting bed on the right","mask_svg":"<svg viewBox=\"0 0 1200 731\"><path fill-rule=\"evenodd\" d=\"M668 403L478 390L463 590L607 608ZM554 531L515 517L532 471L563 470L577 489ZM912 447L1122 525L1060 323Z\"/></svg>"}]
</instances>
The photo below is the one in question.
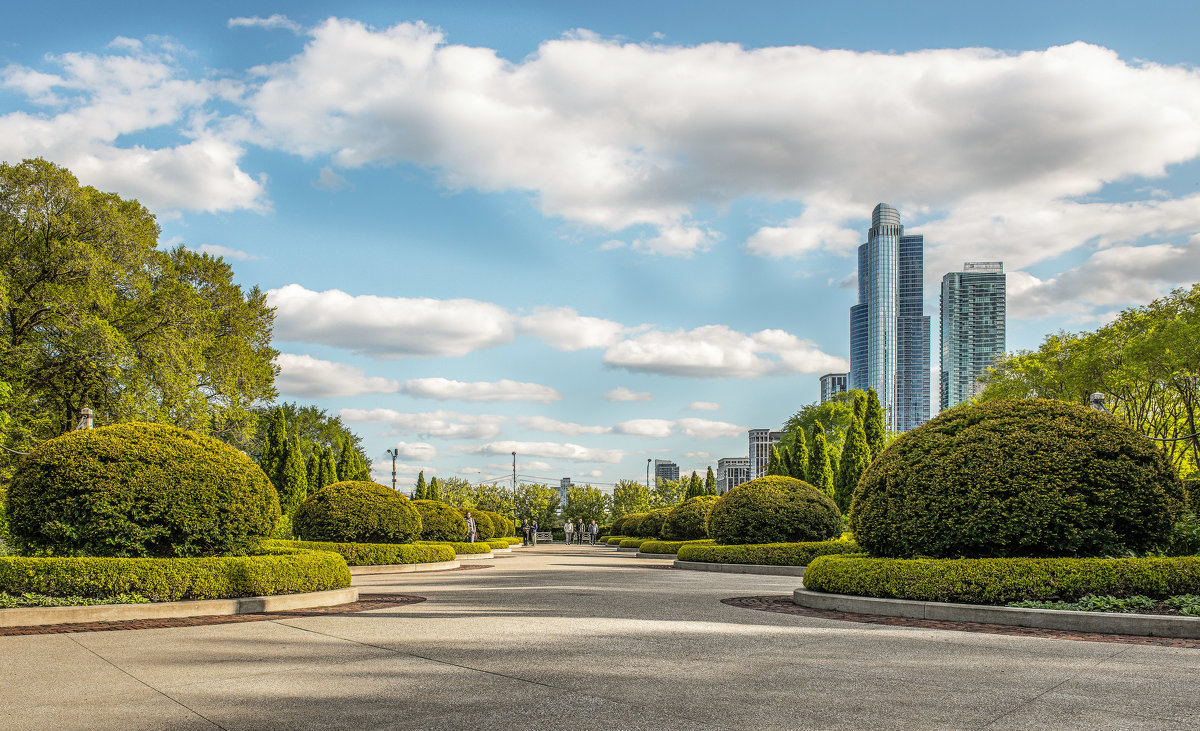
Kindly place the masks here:
<instances>
[{"instance_id":1,"label":"grey stone curb edging the nearest planting bed on the right","mask_svg":"<svg viewBox=\"0 0 1200 731\"><path fill-rule=\"evenodd\" d=\"M912 599L880 599L850 594L827 594L798 588L792 601L800 606L858 615L883 615L941 622L977 622L1038 629L1061 629L1105 635L1144 635L1152 637L1200 637L1200 617L1163 615L1124 615L1111 612L1073 612L1066 610L1021 609L986 604L952 604Z\"/></svg>"}]
</instances>

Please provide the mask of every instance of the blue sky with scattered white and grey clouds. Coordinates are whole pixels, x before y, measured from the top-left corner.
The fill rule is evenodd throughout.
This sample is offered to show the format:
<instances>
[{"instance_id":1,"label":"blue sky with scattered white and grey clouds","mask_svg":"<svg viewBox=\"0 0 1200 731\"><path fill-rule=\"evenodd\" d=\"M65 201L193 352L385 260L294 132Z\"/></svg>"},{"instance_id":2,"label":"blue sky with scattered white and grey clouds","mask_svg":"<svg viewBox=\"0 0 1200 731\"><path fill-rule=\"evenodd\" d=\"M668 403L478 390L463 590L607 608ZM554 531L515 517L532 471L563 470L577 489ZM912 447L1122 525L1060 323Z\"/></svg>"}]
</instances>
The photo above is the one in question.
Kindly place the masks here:
<instances>
[{"instance_id":1,"label":"blue sky with scattered white and grey clouds","mask_svg":"<svg viewBox=\"0 0 1200 731\"><path fill-rule=\"evenodd\" d=\"M1200 7L982 5L22 4L0 158L269 290L380 480L703 472L845 369L880 200L935 331L964 260L1009 349L1200 280Z\"/></svg>"}]
</instances>

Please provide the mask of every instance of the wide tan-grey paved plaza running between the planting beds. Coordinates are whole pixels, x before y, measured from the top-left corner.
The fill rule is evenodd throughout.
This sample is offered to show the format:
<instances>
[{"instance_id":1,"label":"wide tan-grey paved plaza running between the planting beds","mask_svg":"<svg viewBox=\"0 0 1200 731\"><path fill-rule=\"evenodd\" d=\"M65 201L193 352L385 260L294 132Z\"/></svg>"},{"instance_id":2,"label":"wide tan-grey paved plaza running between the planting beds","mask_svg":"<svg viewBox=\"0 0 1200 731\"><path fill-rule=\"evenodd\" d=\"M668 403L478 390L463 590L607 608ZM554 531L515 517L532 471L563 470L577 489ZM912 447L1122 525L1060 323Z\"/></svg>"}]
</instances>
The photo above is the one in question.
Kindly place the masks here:
<instances>
[{"instance_id":1,"label":"wide tan-grey paved plaza running between the planting beds","mask_svg":"<svg viewBox=\"0 0 1200 731\"><path fill-rule=\"evenodd\" d=\"M1200 651L721 604L798 580L589 546L356 576L427 601L0 637L5 729L1195 729Z\"/></svg>"}]
</instances>

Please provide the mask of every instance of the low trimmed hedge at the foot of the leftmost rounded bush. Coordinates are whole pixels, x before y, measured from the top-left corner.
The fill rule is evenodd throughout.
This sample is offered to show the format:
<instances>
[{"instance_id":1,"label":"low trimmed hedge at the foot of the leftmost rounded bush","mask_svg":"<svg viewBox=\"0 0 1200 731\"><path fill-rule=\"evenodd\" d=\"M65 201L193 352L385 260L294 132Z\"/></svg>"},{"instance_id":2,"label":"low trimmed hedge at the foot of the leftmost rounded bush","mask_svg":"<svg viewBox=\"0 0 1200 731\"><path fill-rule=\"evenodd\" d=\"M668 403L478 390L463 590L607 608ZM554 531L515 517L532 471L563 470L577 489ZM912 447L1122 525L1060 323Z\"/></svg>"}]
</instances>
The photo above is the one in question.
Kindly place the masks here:
<instances>
[{"instance_id":1,"label":"low trimmed hedge at the foot of the leftmost rounded bush","mask_svg":"<svg viewBox=\"0 0 1200 731\"><path fill-rule=\"evenodd\" d=\"M0 592L52 597L140 594L151 601L233 599L350 586L337 553L280 549L211 558L0 557Z\"/></svg>"}]
</instances>

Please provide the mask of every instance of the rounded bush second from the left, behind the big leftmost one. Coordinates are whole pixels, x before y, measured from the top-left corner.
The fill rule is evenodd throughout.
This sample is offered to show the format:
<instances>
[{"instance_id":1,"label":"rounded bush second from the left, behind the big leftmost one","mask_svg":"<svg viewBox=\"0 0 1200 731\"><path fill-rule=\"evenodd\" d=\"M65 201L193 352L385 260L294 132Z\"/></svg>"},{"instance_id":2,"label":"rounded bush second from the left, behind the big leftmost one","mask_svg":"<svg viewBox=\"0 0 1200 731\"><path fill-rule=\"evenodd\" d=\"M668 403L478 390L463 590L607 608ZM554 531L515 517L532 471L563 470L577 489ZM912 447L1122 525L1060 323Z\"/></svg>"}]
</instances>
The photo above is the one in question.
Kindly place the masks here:
<instances>
[{"instance_id":1,"label":"rounded bush second from the left, behind the big leftmost one","mask_svg":"<svg viewBox=\"0 0 1200 731\"><path fill-rule=\"evenodd\" d=\"M301 540L407 544L421 532L421 516L403 495L377 483L334 483L296 509L293 532Z\"/></svg>"}]
</instances>

